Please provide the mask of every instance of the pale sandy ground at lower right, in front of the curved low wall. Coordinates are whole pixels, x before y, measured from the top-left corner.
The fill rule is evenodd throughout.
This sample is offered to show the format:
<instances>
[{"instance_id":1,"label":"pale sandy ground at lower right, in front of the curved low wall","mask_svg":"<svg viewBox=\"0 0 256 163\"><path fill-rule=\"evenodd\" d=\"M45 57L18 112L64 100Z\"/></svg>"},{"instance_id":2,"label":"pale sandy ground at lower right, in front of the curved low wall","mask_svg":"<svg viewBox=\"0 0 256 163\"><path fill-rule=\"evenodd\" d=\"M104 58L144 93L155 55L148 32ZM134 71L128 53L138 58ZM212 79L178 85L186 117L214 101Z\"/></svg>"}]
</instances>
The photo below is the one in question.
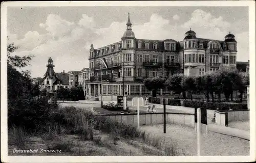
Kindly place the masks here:
<instances>
[{"instance_id":1,"label":"pale sandy ground at lower right, in front of the curved low wall","mask_svg":"<svg viewBox=\"0 0 256 163\"><path fill-rule=\"evenodd\" d=\"M187 156L197 155L197 134L194 128L167 124L166 133L163 125L141 126L141 129L159 135L165 141L177 144L178 148ZM202 155L249 155L250 142L240 138L230 137L209 131L202 137Z\"/></svg>"}]
</instances>

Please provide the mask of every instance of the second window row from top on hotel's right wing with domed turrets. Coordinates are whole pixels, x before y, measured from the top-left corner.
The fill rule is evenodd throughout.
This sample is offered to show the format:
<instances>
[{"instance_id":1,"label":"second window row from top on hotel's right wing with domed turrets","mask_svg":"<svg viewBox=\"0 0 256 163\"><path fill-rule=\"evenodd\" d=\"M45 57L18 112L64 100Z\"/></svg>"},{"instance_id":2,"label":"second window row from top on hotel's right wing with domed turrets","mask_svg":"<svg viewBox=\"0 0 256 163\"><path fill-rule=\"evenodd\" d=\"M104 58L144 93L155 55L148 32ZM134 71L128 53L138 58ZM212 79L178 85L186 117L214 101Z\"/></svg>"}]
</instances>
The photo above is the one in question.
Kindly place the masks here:
<instances>
[{"instance_id":1,"label":"second window row from top on hotel's right wing with domed turrets","mask_svg":"<svg viewBox=\"0 0 256 163\"><path fill-rule=\"evenodd\" d=\"M229 59L229 62L228 62ZM196 61L196 54L184 55L184 63L205 63L205 55L198 55ZM218 55L210 55L210 63L219 63ZM223 64L236 64L236 56L223 56Z\"/></svg>"}]
</instances>

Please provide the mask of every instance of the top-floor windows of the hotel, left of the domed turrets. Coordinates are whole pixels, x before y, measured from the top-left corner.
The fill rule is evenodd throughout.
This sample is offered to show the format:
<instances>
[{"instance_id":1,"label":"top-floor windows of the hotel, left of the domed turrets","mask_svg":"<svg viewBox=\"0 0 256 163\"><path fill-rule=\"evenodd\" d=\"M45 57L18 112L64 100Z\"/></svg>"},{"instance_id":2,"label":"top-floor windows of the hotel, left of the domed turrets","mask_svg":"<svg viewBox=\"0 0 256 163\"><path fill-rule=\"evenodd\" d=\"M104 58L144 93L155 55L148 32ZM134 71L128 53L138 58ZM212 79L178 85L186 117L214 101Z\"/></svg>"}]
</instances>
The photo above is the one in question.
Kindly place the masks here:
<instances>
[{"instance_id":1,"label":"top-floor windows of the hotel, left of the domed turrets","mask_svg":"<svg viewBox=\"0 0 256 163\"><path fill-rule=\"evenodd\" d=\"M126 40L124 48L133 48L132 40ZM138 48L142 48L142 43L138 42ZM153 43L152 48L157 50L157 43ZM115 45L111 46L111 52L113 52L115 49ZM118 50L121 49L121 44L118 43ZM145 42L145 49L150 49L150 43ZM165 43L165 50L175 51L176 50L176 44L175 43ZM99 56L101 52L101 55L104 55L109 53L109 47L102 48L101 50L97 50L96 56ZM93 58L93 51L90 52L90 58Z\"/></svg>"}]
</instances>

